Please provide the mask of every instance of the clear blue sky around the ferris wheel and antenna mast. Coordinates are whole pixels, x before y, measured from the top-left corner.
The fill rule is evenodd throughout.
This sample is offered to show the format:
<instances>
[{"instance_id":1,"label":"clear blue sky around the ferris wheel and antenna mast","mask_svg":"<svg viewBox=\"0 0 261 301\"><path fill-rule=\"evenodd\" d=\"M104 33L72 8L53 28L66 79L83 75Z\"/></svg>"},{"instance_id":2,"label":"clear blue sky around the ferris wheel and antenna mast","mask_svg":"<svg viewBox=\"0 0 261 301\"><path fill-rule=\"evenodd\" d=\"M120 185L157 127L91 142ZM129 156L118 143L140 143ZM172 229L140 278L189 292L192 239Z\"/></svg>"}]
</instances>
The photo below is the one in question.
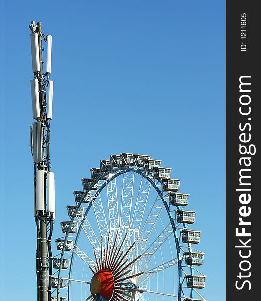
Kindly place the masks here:
<instances>
[{"instance_id":1,"label":"clear blue sky around the ferris wheel and antenna mast","mask_svg":"<svg viewBox=\"0 0 261 301\"><path fill-rule=\"evenodd\" d=\"M36 296L34 20L53 36L56 232L90 167L110 154L150 154L191 194L206 253L203 296L225 299L225 2L2 0L0 11L0 296Z\"/></svg>"}]
</instances>

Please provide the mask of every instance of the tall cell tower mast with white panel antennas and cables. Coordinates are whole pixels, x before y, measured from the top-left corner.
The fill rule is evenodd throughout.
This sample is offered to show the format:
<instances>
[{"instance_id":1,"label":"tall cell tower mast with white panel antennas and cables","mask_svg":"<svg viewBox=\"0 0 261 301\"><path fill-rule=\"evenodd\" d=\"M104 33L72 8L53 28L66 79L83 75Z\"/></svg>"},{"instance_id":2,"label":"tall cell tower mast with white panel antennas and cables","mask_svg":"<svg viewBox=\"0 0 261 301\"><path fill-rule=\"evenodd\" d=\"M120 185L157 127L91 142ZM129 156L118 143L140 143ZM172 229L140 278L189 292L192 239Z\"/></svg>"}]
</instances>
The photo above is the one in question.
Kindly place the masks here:
<instances>
[{"instance_id":1,"label":"tall cell tower mast with white panel antennas and cables","mask_svg":"<svg viewBox=\"0 0 261 301\"><path fill-rule=\"evenodd\" d=\"M42 32L41 22L29 25L31 29L31 80L33 119L31 127L31 153L34 163L34 209L37 227L36 277L37 300L51 299L52 251L51 237L55 219L54 173L50 171L50 121L52 119L53 81L51 74L52 36ZM46 64L43 71L42 42L45 42ZM47 91L48 90L48 91ZM48 95L47 95L48 92Z\"/></svg>"}]
</instances>

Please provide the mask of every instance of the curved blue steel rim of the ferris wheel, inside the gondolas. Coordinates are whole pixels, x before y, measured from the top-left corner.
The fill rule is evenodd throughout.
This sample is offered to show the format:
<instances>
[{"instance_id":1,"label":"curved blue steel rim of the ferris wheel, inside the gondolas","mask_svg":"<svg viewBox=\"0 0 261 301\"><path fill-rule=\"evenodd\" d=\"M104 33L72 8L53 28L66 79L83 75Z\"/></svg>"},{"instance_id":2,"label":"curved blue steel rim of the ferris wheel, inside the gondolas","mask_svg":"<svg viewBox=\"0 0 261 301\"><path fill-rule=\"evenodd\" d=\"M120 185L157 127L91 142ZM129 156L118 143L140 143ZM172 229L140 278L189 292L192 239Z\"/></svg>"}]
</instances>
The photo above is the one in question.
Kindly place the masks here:
<instances>
[{"instance_id":1,"label":"curved blue steel rim of the ferris wheel, inside the gondolas","mask_svg":"<svg viewBox=\"0 0 261 301\"><path fill-rule=\"evenodd\" d=\"M157 192L158 196L160 197L161 201L163 202L163 205L165 207L165 210L166 210L166 212L168 214L168 217L169 217L169 220L170 220L170 224L171 224L171 227L172 227L172 232L173 232L174 240L175 240L175 246L176 246L177 261L178 261L178 274L179 274L179 276L178 276L178 295L177 295L177 298L178 298L178 301L179 301L179 300L181 300L182 283L183 283L184 280L182 281L182 270L183 270L182 267L181 267L182 260L181 260L181 256L180 256L180 245L179 245L179 239L176 235L176 226L175 226L174 218L173 218L172 213L170 211L170 207L168 206L167 202L164 200L164 196L163 196L162 191L156 186L155 182L150 177L148 177L147 173L145 171L140 170L139 168L117 167L117 168L114 168L113 170L108 170L106 172L103 172L95 181L93 181L91 183L91 185L85 190L84 194L82 195L81 200L79 201L78 205L76 206L75 212L74 212L73 216L71 217L70 223L68 225L68 231L66 232L66 235L64 237L64 246L63 246L63 249L62 249L62 252L61 252L60 260L63 259L63 255L64 255L64 251L65 251L65 245L66 245L66 242L67 242L68 236L69 236L69 229L70 229L70 227L71 227L71 225L72 225L72 223L73 223L73 221L76 217L77 210L80 208L81 204L83 203L84 198L93 189L95 184L97 184L99 181L101 181L102 178L104 178L105 176L107 176L109 174L113 174L112 177L106 179L106 181L101 185L99 190L95 193L94 199L96 199L98 193L100 193L113 179L119 177L120 175L122 175L125 172L134 172L134 173L139 174L142 178L145 178L153 186L153 188ZM148 174L150 174L150 172L148 172ZM93 204L93 201L90 201L88 207L85 210L84 216L87 216L90 208L92 207L92 204ZM82 226L80 225L79 230L77 232L77 235L75 237L76 243L77 243L78 238L80 236L81 229L82 229ZM75 245L75 243L74 243L74 245ZM74 257L75 257L75 254L74 254L74 252L72 252L71 263L73 262ZM70 267L69 275L71 275L71 270L72 270L72 267ZM61 266L60 266L59 271L58 271L58 283L59 283L59 280L61 278L62 277L61 277ZM69 284L68 284L68 290L67 291L68 291L68 298L70 299L70 294L69 294L70 281L68 281L68 282L69 282ZM57 286L57 298L59 298L59 290L60 290L59 288L60 287L58 285ZM192 297L192 293L193 293L193 288L191 288L191 297ZM69 301L69 299L68 299L68 301Z\"/></svg>"}]
</instances>

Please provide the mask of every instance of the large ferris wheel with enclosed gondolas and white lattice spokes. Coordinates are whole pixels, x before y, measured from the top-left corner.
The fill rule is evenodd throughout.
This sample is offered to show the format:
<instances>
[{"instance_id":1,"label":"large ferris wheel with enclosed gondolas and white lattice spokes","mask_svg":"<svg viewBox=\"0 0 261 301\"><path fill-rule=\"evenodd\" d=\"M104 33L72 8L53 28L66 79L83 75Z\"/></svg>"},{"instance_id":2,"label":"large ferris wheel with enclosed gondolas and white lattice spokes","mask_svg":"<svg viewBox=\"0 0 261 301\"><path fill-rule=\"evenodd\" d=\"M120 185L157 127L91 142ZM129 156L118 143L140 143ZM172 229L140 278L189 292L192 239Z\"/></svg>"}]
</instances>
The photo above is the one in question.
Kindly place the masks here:
<instances>
[{"instance_id":1,"label":"large ferris wheel with enclosed gondolas and white lattice spokes","mask_svg":"<svg viewBox=\"0 0 261 301\"><path fill-rule=\"evenodd\" d=\"M171 168L149 155L101 160L74 191L56 239L52 301L205 300L201 231Z\"/></svg>"}]
</instances>

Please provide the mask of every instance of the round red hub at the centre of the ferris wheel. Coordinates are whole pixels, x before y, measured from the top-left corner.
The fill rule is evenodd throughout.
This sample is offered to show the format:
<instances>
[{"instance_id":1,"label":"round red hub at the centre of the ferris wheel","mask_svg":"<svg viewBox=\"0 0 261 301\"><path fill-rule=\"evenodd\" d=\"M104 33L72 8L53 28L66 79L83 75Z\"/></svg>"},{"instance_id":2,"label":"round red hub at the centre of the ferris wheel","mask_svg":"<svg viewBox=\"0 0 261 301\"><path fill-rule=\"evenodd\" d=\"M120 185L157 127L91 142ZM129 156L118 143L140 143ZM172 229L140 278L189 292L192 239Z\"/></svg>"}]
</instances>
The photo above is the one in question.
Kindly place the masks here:
<instances>
[{"instance_id":1,"label":"round red hub at the centre of the ferris wheel","mask_svg":"<svg viewBox=\"0 0 261 301\"><path fill-rule=\"evenodd\" d=\"M105 299L110 299L114 290L114 278L110 269L102 269L91 278L91 294L99 294Z\"/></svg>"}]
</instances>

